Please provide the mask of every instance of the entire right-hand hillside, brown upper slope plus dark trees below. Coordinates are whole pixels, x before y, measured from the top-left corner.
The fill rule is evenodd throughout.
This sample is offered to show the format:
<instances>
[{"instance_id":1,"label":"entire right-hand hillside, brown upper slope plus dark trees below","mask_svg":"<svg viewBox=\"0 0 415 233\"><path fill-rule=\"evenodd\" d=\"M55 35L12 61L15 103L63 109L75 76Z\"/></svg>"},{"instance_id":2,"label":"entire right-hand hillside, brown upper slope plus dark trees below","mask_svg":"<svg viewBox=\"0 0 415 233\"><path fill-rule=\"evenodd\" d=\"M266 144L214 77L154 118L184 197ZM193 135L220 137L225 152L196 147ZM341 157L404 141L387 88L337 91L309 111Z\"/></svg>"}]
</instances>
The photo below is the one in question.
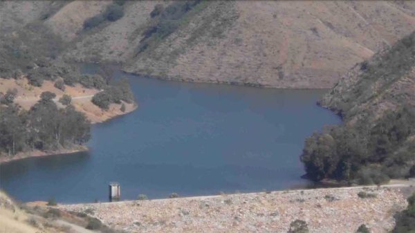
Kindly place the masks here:
<instances>
[{"instance_id":1,"label":"entire right-hand hillside, brown upper slope plus dark trees below","mask_svg":"<svg viewBox=\"0 0 415 233\"><path fill-rule=\"evenodd\" d=\"M356 65L320 104L344 124L306 140L309 178L383 183L415 176L415 32Z\"/></svg>"}]
</instances>

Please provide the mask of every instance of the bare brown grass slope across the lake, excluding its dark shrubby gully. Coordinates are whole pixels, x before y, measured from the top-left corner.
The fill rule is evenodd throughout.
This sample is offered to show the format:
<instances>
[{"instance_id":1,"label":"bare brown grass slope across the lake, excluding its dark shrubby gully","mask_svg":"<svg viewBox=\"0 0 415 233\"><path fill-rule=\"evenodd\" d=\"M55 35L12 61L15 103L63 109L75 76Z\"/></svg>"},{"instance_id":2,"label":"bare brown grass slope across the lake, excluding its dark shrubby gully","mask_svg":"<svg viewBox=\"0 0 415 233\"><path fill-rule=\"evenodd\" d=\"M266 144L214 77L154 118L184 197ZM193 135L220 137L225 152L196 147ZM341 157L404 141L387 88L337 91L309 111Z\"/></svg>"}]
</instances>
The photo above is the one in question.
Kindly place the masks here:
<instances>
[{"instance_id":1,"label":"bare brown grass slope across the lake, excluding its dark shrubby gully","mask_svg":"<svg viewBox=\"0 0 415 233\"><path fill-rule=\"evenodd\" d=\"M126 62L126 71L174 80L329 88L415 28L411 1L211 1L135 57L156 2L128 4L123 19L69 57Z\"/></svg>"}]
</instances>

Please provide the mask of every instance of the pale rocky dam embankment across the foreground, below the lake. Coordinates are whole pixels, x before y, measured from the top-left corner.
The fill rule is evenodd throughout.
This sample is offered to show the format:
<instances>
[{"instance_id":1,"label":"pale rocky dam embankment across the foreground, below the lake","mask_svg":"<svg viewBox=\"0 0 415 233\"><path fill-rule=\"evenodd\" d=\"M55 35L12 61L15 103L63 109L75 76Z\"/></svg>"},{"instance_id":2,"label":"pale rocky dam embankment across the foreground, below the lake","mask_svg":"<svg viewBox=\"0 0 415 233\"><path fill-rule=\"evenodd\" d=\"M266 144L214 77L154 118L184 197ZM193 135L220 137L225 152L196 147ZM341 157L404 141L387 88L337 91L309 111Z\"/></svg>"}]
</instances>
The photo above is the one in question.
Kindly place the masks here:
<instances>
[{"instance_id":1,"label":"pale rocky dam embankment across the foreground, below the lake","mask_svg":"<svg viewBox=\"0 0 415 233\"><path fill-rule=\"evenodd\" d=\"M372 233L388 232L394 213L405 209L403 189L352 187L232 194L152 201L62 205L86 209L105 224L128 232L287 232L295 219L311 233L356 232L366 224ZM376 194L360 198L359 192ZM407 192L407 190L406 190Z\"/></svg>"}]
</instances>

